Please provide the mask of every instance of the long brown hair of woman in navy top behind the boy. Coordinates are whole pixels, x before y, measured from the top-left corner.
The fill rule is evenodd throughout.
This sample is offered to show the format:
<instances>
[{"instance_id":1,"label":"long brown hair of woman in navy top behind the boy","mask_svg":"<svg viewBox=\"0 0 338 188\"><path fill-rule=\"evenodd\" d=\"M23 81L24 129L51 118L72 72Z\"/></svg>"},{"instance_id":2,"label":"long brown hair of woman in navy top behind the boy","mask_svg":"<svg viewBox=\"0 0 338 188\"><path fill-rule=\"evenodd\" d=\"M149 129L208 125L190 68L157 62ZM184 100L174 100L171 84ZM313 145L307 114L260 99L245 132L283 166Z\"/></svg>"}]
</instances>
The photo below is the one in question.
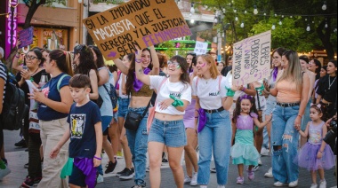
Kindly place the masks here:
<instances>
[{"instance_id":1,"label":"long brown hair of woman in navy top behind the boy","mask_svg":"<svg viewBox=\"0 0 338 188\"><path fill-rule=\"evenodd\" d=\"M62 73L73 75L73 69L71 67L71 55L67 51L53 50L49 53L49 58L56 61L56 66Z\"/></svg>"}]
</instances>

